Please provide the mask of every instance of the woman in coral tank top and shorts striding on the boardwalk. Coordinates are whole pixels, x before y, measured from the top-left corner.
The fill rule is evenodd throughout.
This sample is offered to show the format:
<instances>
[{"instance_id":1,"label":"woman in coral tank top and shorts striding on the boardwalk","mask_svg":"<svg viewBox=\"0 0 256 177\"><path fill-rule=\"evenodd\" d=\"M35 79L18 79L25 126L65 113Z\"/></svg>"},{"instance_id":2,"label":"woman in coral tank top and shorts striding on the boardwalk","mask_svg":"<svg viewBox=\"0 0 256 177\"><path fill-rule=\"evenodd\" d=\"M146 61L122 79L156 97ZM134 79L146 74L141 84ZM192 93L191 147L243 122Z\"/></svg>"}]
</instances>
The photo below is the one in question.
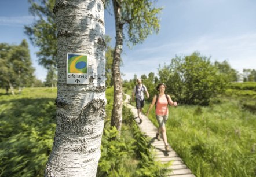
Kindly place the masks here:
<instances>
[{"instance_id":1,"label":"woman in coral tank top and shorts striding on the boardwalk","mask_svg":"<svg viewBox=\"0 0 256 177\"><path fill-rule=\"evenodd\" d=\"M168 143L167 143L167 136L166 136L166 128L165 124L168 119L168 104L171 106L177 106L177 102L173 102L171 100L170 95L167 95L164 93L166 90L166 85L164 83L158 84L156 87L156 90L158 90L158 94L153 97L153 100L151 102L151 105L148 108L147 116L149 111L153 108L154 105L156 105L156 120L158 120L158 132L156 133L156 139L160 141L160 132L162 132L163 136L163 142L165 145L166 152L170 152Z\"/></svg>"}]
</instances>

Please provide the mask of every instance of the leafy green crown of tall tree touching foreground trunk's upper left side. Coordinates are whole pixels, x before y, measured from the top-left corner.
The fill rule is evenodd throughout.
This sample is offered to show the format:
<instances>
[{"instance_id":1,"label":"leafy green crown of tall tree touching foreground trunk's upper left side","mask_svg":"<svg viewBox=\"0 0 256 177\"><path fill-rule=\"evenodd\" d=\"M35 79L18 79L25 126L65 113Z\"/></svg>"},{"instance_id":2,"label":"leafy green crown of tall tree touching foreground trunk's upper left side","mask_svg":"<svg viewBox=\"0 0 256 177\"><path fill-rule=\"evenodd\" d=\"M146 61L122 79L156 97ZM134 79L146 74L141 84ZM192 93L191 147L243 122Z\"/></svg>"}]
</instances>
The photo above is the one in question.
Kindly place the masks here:
<instances>
[{"instance_id":1,"label":"leafy green crown of tall tree touching foreground trunk's upper left side","mask_svg":"<svg viewBox=\"0 0 256 177\"><path fill-rule=\"evenodd\" d=\"M28 35L34 46L38 47L36 53L39 64L46 69L57 67L57 29L53 8L55 0L29 0L30 13L36 17L35 22L25 26L25 34Z\"/></svg>"}]
</instances>

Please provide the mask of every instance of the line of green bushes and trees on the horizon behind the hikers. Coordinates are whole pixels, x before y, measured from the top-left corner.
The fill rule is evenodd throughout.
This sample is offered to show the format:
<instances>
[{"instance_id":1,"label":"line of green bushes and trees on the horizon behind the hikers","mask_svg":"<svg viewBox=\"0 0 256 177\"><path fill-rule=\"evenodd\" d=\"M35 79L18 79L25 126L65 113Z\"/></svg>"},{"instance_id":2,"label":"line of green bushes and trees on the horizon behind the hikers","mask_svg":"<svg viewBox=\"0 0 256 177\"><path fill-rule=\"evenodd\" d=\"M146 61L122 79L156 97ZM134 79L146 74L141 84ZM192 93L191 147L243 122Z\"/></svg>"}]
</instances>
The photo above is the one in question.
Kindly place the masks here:
<instances>
[{"instance_id":1,"label":"line of green bushes and trees on the horizon behind the hikers","mask_svg":"<svg viewBox=\"0 0 256 177\"><path fill-rule=\"evenodd\" d=\"M250 71L250 78L254 79L255 70ZM137 75L134 75L133 79L125 80L124 87L133 89L136 79ZM169 65L158 68L157 76L149 73L148 76L142 75L141 79L151 94L150 100L156 94L156 85L165 83L166 92L175 101L190 105L209 105L211 98L224 93L232 82L241 80L239 72L231 68L227 61L213 64L209 57L196 52L190 56L176 56Z\"/></svg>"}]
</instances>

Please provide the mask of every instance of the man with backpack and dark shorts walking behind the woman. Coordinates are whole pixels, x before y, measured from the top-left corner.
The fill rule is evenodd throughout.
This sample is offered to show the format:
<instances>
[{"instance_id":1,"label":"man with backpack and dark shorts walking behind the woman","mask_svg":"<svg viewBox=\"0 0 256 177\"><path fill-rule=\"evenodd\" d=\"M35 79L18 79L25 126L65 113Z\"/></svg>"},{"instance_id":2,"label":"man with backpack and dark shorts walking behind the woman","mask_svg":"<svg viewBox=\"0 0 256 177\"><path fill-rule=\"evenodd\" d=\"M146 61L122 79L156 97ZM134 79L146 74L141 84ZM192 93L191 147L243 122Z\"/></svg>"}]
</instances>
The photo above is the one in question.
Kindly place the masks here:
<instances>
[{"instance_id":1,"label":"man with backpack and dark shorts walking behind the woman","mask_svg":"<svg viewBox=\"0 0 256 177\"><path fill-rule=\"evenodd\" d=\"M136 86L133 89L133 97L131 98L131 101L134 101L134 97L136 98L136 108L138 110L138 118L140 119L140 123L142 122L141 119L141 113L142 113L142 108L144 106L144 93L147 94L147 97L149 98L148 90L146 86L142 84L141 79L137 79Z\"/></svg>"}]
</instances>

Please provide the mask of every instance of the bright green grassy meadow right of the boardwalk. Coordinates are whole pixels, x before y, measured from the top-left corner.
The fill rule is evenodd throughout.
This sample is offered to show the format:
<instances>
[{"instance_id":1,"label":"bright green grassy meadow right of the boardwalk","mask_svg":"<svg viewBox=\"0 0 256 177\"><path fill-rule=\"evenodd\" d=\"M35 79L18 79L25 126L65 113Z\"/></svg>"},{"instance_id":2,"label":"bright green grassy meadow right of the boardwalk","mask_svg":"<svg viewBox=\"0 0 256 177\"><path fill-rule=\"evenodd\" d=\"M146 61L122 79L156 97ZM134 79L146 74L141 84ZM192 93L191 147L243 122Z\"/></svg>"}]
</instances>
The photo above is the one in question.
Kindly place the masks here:
<instances>
[{"instance_id":1,"label":"bright green grassy meadow right of the boardwalk","mask_svg":"<svg viewBox=\"0 0 256 177\"><path fill-rule=\"evenodd\" d=\"M196 176L256 175L255 88L235 83L209 106L169 108L168 141ZM149 119L157 126L154 111Z\"/></svg>"}]
</instances>

